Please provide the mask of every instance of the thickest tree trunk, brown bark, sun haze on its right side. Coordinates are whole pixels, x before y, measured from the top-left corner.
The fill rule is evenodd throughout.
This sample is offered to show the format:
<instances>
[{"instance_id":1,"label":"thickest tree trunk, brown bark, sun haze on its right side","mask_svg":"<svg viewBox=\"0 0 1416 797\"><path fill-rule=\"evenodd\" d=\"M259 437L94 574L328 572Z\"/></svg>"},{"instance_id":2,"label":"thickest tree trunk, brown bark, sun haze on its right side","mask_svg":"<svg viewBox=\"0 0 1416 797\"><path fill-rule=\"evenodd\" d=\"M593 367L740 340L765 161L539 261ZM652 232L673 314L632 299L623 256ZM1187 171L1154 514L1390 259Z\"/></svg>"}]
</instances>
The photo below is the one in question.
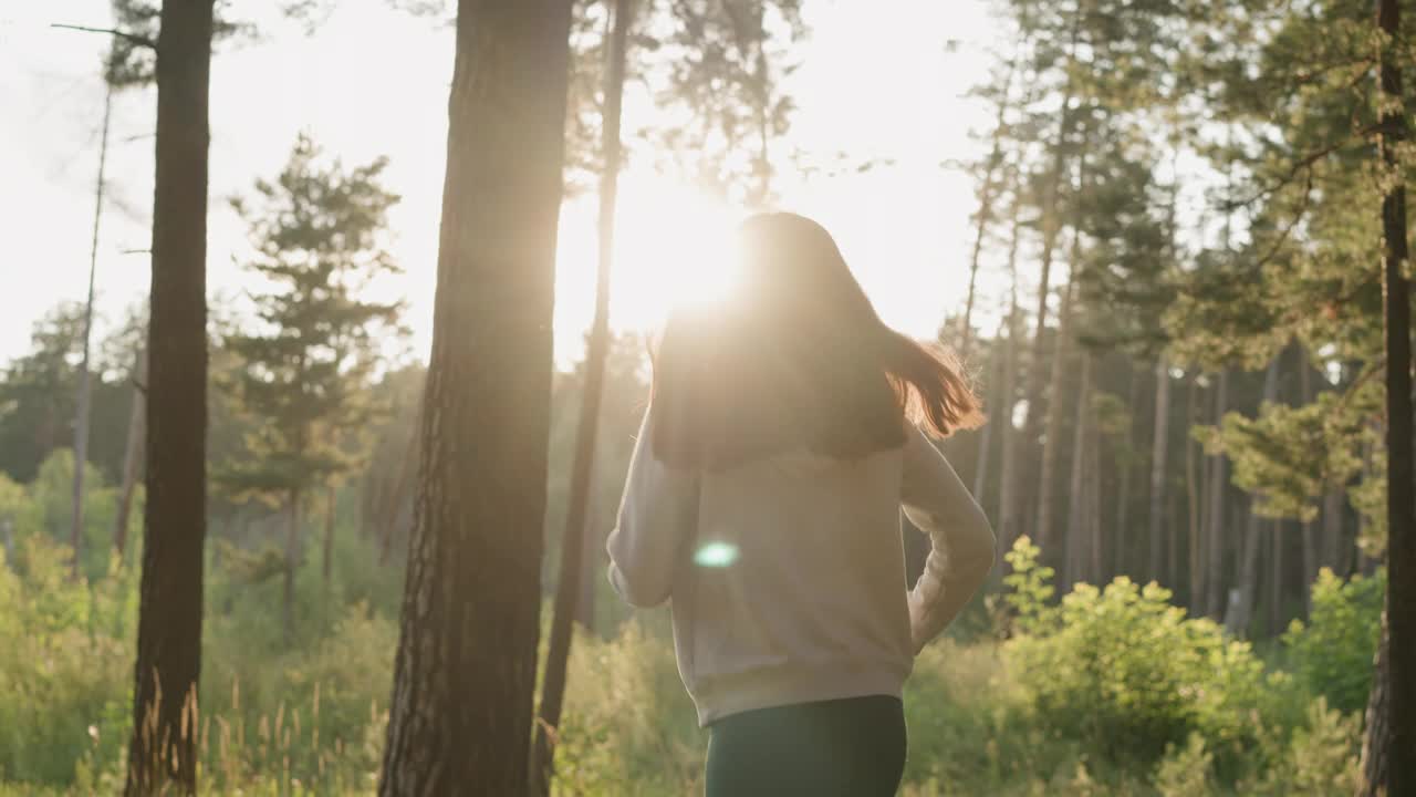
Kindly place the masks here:
<instances>
[{"instance_id":1,"label":"thickest tree trunk, brown bark, sun haze on its right side","mask_svg":"<svg viewBox=\"0 0 1416 797\"><path fill-rule=\"evenodd\" d=\"M528 790L571 0L460 0L379 794Z\"/></svg>"}]
</instances>

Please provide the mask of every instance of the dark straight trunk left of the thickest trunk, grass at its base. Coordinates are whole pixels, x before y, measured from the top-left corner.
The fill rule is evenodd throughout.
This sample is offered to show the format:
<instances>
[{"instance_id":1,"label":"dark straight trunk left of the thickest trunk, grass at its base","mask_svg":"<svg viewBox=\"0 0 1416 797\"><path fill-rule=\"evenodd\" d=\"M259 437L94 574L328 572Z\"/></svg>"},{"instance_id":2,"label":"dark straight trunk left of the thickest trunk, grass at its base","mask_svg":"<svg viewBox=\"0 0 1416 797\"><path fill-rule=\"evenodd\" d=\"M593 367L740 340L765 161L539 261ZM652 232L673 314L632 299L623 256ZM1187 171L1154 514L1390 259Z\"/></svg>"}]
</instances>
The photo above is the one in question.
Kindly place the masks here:
<instances>
[{"instance_id":1,"label":"dark straight trunk left of the thickest trunk, grass at its base","mask_svg":"<svg viewBox=\"0 0 1416 797\"><path fill-rule=\"evenodd\" d=\"M164 0L157 38L147 501L127 797L197 790L212 3Z\"/></svg>"}]
</instances>

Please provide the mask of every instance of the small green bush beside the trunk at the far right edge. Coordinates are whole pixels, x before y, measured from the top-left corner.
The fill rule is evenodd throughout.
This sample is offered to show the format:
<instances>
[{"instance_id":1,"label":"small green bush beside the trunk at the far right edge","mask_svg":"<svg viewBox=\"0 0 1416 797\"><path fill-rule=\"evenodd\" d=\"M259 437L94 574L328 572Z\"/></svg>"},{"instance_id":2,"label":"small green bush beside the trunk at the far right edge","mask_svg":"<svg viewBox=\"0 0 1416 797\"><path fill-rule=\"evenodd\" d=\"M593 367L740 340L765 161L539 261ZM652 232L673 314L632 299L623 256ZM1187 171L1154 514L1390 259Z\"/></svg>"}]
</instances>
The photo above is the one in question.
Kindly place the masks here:
<instances>
[{"instance_id":1,"label":"small green bush beside the trunk at the far right edge","mask_svg":"<svg viewBox=\"0 0 1416 797\"><path fill-rule=\"evenodd\" d=\"M1297 682L1338 712L1358 713L1366 706L1385 594L1385 570L1342 580L1324 567L1313 584L1308 623L1294 620L1283 634Z\"/></svg>"}]
</instances>

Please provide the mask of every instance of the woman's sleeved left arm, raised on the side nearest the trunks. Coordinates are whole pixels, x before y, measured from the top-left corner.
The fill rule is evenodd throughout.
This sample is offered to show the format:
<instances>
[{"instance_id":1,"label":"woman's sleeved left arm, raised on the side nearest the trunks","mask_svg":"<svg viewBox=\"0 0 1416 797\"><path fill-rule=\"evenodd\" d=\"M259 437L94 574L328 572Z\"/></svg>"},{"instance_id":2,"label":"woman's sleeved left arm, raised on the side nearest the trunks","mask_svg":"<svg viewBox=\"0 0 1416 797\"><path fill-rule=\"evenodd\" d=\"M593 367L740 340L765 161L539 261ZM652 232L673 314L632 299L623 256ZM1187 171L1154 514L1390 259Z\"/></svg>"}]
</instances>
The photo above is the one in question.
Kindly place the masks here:
<instances>
[{"instance_id":1,"label":"woman's sleeved left arm, raised on the side nearest the trunks","mask_svg":"<svg viewBox=\"0 0 1416 797\"><path fill-rule=\"evenodd\" d=\"M698 474L654 458L653 413L651 404L634 442L619 522L606 545L615 591L644 608L668 598L683 540L698 519Z\"/></svg>"}]
</instances>

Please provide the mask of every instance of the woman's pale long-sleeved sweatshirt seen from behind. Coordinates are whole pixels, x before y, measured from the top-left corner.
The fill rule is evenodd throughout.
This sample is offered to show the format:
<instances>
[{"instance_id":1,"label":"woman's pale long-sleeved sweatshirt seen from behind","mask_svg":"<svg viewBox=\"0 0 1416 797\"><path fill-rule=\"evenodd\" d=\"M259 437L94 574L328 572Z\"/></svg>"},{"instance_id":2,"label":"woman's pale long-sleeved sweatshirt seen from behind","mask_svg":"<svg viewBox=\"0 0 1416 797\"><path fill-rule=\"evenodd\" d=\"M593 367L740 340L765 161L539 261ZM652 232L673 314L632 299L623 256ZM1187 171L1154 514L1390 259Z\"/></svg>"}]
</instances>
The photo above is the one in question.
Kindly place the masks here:
<instances>
[{"instance_id":1,"label":"woman's pale long-sleeved sweatshirt seen from behind","mask_svg":"<svg viewBox=\"0 0 1416 797\"><path fill-rule=\"evenodd\" d=\"M657 461L651 428L646 414L609 576L634 606L671 598L678 672L701 725L899 696L915 654L993 567L987 518L913 425L902 448L861 459L799 451L705 474ZM933 542L912 591L901 508Z\"/></svg>"}]
</instances>

